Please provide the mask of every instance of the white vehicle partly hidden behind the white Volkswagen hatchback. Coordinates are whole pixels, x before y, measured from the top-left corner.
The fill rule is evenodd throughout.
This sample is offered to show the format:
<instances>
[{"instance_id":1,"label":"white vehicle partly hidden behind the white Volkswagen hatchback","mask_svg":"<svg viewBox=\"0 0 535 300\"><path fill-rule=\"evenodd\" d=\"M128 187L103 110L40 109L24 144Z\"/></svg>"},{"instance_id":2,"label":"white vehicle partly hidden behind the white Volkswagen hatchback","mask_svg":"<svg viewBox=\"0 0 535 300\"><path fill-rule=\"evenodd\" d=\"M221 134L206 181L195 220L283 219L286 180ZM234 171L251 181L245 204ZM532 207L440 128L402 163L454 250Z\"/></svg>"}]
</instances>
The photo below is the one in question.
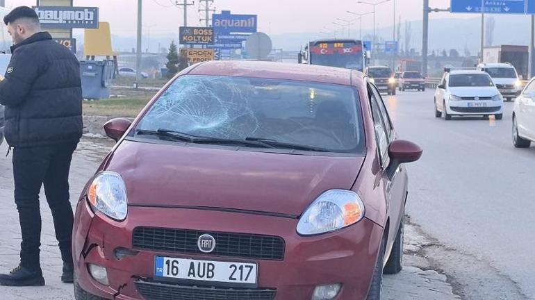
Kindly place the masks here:
<instances>
[{"instance_id":1,"label":"white vehicle partly hidden behind the white Volkswagen hatchback","mask_svg":"<svg viewBox=\"0 0 535 300\"><path fill-rule=\"evenodd\" d=\"M510 63L479 64L477 70L487 72L493 78L496 88L507 101L515 99L522 91L522 81Z\"/></svg>"}]
</instances>

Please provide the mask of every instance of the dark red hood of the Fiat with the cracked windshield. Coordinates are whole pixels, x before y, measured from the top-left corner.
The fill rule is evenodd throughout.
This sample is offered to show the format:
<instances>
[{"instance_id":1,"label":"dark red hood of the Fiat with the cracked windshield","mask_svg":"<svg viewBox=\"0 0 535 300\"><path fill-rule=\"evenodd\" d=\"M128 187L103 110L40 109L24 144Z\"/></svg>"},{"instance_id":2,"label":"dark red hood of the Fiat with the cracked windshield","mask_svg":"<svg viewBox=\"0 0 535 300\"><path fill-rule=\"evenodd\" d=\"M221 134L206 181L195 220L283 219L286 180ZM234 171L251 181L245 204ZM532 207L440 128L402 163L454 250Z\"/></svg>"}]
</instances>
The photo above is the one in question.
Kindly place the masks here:
<instances>
[{"instance_id":1,"label":"dark red hood of the Fiat with the cracked windshield","mask_svg":"<svg viewBox=\"0 0 535 300\"><path fill-rule=\"evenodd\" d=\"M322 192L352 188L363 161L124 140L106 169L124 178L130 206L297 216Z\"/></svg>"}]
</instances>

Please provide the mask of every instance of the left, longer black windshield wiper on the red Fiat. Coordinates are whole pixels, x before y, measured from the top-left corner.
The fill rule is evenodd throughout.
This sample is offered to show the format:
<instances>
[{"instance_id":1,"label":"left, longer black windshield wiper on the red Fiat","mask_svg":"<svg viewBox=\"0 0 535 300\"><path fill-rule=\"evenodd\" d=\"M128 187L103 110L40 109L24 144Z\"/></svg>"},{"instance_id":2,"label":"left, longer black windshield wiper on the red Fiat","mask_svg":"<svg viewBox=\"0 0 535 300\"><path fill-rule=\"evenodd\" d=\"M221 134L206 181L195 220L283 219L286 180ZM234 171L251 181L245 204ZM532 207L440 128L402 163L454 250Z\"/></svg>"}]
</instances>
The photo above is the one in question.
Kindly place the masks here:
<instances>
[{"instance_id":1,"label":"left, longer black windshield wiper on the red Fiat","mask_svg":"<svg viewBox=\"0 0 535 300\"><path fill-rule=\"evenodd\" d=\"M157 131L150 131L145 129L138 129L135 131L141 135L157 135L160 138L170 138L172 140L180 140L183 142L190 142L192 144L234 144L246 147L261 147L261 148L274 148L272 145L263 141L252 140L232 140L224 138L210 138L197 135L190 135L188 133L182 133L180 131L172 131L169 129L158 129Z\"/></svg>"}]
</instances>

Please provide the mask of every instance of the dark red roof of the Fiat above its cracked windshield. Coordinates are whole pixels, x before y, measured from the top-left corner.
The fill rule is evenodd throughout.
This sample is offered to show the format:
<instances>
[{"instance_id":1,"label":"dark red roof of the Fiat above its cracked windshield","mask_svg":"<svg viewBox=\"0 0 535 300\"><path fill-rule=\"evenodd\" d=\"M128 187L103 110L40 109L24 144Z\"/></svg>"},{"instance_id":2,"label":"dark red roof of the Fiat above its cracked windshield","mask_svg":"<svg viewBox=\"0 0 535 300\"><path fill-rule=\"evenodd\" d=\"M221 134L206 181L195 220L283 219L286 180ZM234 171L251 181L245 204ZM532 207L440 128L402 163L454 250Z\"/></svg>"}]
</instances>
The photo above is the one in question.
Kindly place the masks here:
<instances>
[{"instance_id":1,"label":"dark red roof of the Fiat above its cracked windshield","mask_svg":"<svg viewBox=\"0 0 535 300\"><path fill-rule=\"evenodd\" d=\"M315 81L354 85L364 74L352 69L319 65L273 63L251 60L212 60L199 63L188 74Z\"/></svg>"}]
</instances>

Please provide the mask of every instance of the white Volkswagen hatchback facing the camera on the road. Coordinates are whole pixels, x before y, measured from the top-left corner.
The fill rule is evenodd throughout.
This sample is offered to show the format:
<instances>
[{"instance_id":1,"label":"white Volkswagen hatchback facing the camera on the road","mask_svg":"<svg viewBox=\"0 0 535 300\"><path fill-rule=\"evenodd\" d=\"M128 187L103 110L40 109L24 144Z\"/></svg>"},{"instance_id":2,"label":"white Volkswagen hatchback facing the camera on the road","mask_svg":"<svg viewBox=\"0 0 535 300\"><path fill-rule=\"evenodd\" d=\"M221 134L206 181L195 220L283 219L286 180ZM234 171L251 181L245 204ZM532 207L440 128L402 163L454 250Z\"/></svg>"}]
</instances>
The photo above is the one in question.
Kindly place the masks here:
<instances>
[{"instance_id":1,"label":"white Volkswagen hatchback facing the camera on the road","mask_svg":"<svg viewBox=\"0 0 535 300\"><path fill-rule=\"evenodd\" d=\"M503 117L503 97L486 72L445 69L435 92L435 117L494 115Z\"/></svg>"}]
</instances>

